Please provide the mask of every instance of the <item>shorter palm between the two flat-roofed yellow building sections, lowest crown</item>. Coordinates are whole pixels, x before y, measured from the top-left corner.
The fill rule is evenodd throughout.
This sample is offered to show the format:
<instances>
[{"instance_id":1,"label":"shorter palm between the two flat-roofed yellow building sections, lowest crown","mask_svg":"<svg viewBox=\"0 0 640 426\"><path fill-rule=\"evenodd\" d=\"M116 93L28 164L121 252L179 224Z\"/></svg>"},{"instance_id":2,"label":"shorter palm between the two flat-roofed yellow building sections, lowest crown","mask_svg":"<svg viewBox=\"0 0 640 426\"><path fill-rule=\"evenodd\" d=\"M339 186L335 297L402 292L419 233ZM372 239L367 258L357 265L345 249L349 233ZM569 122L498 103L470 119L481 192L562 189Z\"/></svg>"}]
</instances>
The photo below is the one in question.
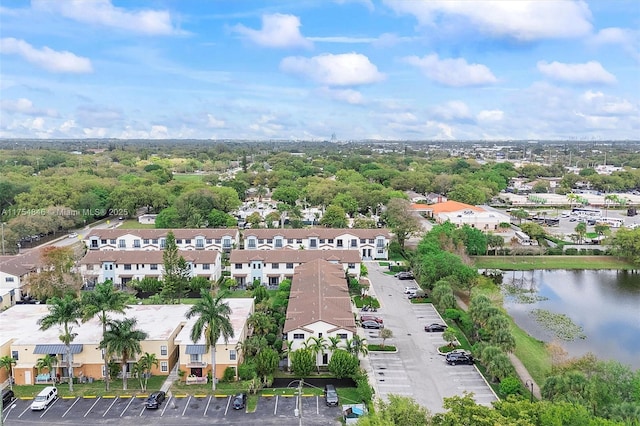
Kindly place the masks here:
<instances>
[{"instance_id":1,"label":"shorter palm between the two flat-roofed yellow building sections, lowest crown","mask_svg":"<svg viewBox=\"0 0 640 426\"><path fill-rule=\"evenodd\" d=\"M140 342L147 333L136 330L135 318L109 321L108 330L100 342L100 348L106 349L109 356L117 354L122 358L122 390L127 390L127 362L142 352Z\"/></svg>"}]
</instances>

